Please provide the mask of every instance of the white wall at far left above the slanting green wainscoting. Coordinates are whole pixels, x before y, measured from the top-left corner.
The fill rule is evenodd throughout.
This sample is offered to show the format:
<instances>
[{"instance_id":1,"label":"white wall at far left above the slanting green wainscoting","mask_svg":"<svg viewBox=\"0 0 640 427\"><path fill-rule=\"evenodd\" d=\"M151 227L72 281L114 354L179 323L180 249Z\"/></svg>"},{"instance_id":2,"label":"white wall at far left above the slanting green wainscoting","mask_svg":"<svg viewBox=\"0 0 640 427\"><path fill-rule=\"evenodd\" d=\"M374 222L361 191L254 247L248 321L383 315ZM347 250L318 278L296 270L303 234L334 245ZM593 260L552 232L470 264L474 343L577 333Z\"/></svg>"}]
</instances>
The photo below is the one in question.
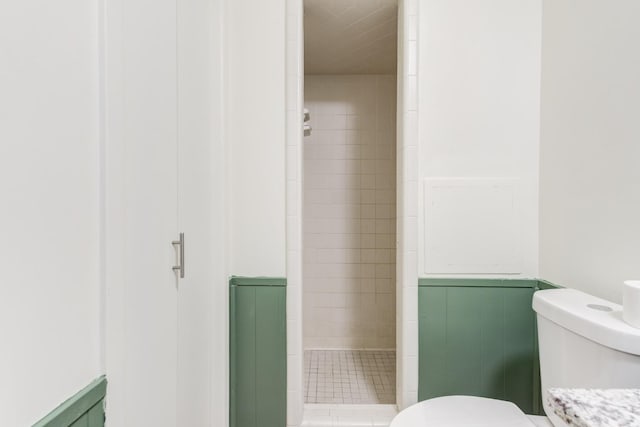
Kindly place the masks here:
<instances>
[{"instance_id":1,"label":"white wall at far left above the slanting green wainscoting","mask_svg":"<svg viewBox=\"0 0 640 427\"><path fill-rule=\"evenodd\" d=\"M0 6L0 425L101 374L98 1Z\"/></svg>"}]
</instances>

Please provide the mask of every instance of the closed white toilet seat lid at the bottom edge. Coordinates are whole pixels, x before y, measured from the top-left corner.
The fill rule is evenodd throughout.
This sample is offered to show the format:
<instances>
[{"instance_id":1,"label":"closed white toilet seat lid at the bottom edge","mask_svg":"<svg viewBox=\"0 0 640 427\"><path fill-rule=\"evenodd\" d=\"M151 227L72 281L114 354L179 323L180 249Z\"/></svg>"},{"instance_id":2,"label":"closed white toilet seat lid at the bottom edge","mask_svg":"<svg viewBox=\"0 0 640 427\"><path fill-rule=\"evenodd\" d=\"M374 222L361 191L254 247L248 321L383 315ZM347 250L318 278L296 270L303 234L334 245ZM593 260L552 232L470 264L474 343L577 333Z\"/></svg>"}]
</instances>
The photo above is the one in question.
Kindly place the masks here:
<instances>
[{"instance_id":1,"label":"closed white toilet seat lid at the bottom edge","mask_svg":"<svg viewBox=\"0 0 640 427\"><path fill-rule=\"evenodd\" d=\"M425 400L400 412L390 427L535 427L511 402L473 396Z\"/></svg>"}]
</instances>

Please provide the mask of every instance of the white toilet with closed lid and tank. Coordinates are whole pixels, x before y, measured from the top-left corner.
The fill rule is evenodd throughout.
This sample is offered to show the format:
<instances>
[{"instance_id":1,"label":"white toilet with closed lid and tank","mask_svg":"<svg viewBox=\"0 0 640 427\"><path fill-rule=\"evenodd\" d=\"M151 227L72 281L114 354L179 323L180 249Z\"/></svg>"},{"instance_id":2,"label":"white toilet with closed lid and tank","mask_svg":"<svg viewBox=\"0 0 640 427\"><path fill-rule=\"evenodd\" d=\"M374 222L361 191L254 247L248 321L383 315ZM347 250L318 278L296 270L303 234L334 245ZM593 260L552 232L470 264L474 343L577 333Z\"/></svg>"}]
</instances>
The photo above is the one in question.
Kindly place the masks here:
<instances>
[{"instance_id":1,"label":"white toilet with closed lid and tank","mask_svg":"<svg viewBox=\"0 0 640 427\"><path fill-rule=\"evenodd\" d=\"M550 388L640 388L640 329L622 319L622 306L574 289L538 291L542 400L547 417L516 405L472 396L425 400L400 412L390 427L566 426L547 402Z\"/></svg>"}]
</instances>

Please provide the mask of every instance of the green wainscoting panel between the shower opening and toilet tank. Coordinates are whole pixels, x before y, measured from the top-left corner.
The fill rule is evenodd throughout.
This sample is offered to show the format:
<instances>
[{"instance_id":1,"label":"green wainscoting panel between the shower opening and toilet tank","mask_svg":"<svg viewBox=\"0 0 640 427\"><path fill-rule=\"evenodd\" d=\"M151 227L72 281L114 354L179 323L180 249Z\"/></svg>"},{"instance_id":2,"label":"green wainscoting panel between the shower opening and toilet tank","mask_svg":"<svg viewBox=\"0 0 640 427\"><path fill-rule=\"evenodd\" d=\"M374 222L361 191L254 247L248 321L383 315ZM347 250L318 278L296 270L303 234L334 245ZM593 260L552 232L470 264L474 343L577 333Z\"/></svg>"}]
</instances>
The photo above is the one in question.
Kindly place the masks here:
<instances>
[{"instance_id":1,"label":"green wainscoting panel between the shower opening and toilet tank","mask_svg":"<svg viewBox=\"0 0 640 427\"><path fill-rule=\"evenodd\" d=\"M422 279L418 398L471 395L534 413L535 280Z\"/></svg>"}]
</instances>

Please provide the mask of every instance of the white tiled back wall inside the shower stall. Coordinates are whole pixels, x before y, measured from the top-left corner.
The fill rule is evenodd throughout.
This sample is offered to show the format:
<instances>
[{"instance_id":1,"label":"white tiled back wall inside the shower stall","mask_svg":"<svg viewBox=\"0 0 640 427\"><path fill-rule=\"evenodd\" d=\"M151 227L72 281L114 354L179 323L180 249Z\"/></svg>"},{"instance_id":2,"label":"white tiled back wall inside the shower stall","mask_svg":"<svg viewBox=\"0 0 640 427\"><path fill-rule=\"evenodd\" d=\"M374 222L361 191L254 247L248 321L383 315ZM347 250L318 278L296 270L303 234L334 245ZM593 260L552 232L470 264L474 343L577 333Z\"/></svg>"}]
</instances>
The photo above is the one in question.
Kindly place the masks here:
<instances>
[{"instance_id":1,"label":"white tiled back wall inside the shower stall","mask_svg":"<svg viewBox=\"0 0 640 427\"><path fill-rule=\"evenodd\" d=\"M308 75L304 346L396 347L396 77Z\"/></svg>"}]
</instances>

